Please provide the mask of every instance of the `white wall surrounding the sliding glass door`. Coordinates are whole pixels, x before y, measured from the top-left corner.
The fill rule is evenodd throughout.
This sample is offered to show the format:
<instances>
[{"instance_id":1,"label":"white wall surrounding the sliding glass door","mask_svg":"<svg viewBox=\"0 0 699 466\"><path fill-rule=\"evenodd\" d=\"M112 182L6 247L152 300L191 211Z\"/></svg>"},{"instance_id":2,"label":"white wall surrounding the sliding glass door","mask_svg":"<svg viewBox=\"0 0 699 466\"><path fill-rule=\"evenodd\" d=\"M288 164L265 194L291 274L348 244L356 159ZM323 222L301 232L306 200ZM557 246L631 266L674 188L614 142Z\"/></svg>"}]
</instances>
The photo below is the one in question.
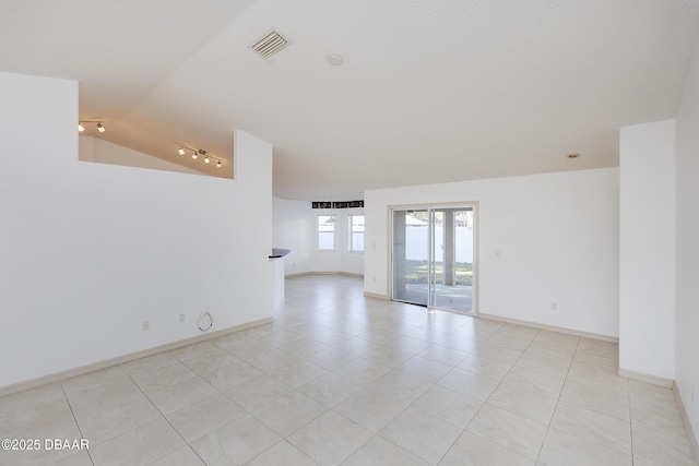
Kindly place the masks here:
<instances>
[{"instance_id":1,"label":"white wall surrounding the sliding glass door","mask_svg":"<svg viewBox=\"0 0 699 466\"><path fill-rule=\"evenodd\" d=\"M365 291L390 292L390 205L471 201L479 312L618 336L616 168L367 191Z\"/></svg>"}]
</instances>

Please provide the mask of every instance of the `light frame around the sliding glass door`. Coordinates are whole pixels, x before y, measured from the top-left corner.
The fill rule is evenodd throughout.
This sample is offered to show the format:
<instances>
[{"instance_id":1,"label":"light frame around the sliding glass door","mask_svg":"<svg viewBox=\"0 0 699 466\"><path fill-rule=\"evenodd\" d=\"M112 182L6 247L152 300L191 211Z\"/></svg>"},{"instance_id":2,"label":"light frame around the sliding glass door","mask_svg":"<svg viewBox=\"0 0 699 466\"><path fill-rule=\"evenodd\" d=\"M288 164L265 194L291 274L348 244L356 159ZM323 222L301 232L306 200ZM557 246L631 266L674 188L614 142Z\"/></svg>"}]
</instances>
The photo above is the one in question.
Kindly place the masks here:
<instances>
[{"instance_id":1,"label":"light frame around the sliding glass door","mask_svg":"<svg viewBox=\"0 0 699 466\"><path fill-rule=\"evenodd\" d=\"M478 231L481 229L481 208L479 208L479 203L478 201L463 201L463 202L437 202L437 203L415 203L415 204L391 204L387 206L387 218L388 218L388 229L389 229L389 235L388 235L388 248L387 248L387 252L388 252L388 264L387 264L387 275L388 275L388 285L389 285L389 289L388 289L388 298L389 300L393 301L393 286L394 286L394 282L393 282L393 254L394 254L394 250L393 250L393 241L394 241L394 235L395 235L395 230L394 230L394 225L393 225L393 211L406 211L406 210L415 210L415 211L420 211L420 210L439 210L439 208L454 208L454 207L465 207L465 208L473 208L473 299L472 299L472 309L471 309L471 314L473 316L478 316L481 313L479 310L479 292L478 292L478 286L479 286L479 282L481 282L481 274L479 274L479 235ZM428 234L429 236L430 234ZM431 238L430 238L431 240ZM431 244L429 244L429 247L431 247ZM431 254L431 253L430 253ZM429 282L429 277L428 277L428 282ZM428 283L429 286L429 283ZM429 301L429 300L428 300ZM396 301L396 302L406 302L406 301ZM429 304L429 302L428 302ZM440 310L440 311L445 311L445 312L455 312L455 311L450 311L448 309L441 309L441 308L433 308L433 307L427 307L427 309L429 310Z\"/></svg>"}]
</instances>

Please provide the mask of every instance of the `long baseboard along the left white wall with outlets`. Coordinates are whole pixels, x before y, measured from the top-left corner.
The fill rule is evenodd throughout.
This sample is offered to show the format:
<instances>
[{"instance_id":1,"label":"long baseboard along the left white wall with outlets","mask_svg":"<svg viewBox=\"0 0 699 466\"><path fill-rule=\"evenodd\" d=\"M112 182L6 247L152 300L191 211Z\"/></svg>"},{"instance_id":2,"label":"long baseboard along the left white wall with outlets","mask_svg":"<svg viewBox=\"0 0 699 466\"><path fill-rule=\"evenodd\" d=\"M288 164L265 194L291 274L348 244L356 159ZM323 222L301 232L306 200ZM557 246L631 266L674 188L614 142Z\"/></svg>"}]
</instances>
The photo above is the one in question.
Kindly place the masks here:
<instances>
[{"instance_id":1,"label":"long baseboard along the left white wall with outlets","mask_svg":"<svg viewBox=\"0 0 699 466\"><path fill-rule=\"evenodd\" d=\"M36 379L27 380L24 382L14 383L12 385L5 385L3 387L0 387L0 396L11 395L13 393L23 392L25 390L36 389L42 385L48 385L49 383L61 382L66 379L70 379L76 375L83 375L88 372L94 372L100 369L107 369L112 366L122 365L125 362L141 359L146 356L157 355L158 353L169 351L176 348L180 348L182 346L205 342L208 339L216 338L218 336L227 335L229 333L240 332L242 330L252 328L258 325L269 324L270 322L272 322L272 318L260 319L260 320L248 322L245 324L235 325L228 328L222 328L212 333L192 336L191 338L185 338L185 339L168 343L165 345L155 346L153 348L142 349L140 351L130 353L128 355L118 356L116 358L106 359L104 361L93 362L91 365L81 366L79 368L69 369L62 372L57 372L49 375L44 375Z\"/></svg>"}]
</instances>

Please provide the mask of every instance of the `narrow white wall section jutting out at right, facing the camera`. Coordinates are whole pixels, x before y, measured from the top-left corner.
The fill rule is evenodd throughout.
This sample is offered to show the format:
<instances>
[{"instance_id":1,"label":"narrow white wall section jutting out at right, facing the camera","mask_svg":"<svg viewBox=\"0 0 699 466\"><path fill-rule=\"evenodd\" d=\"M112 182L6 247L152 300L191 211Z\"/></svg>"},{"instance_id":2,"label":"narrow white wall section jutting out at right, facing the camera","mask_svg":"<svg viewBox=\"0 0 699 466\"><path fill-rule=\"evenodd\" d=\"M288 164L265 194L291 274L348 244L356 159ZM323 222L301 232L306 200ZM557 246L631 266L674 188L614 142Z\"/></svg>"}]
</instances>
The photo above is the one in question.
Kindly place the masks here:
<instances>
[{"instance_id":1,"label":"narrow white wall section jutting out at right, facing the camera","mask_svg":"<svg viewBox=\"0 0 699 466\"><path fill-rule=\"evenodd\" d=\"M619 368L673 380L675 120L619 136Z\"/></svg>"}]
</instances>

